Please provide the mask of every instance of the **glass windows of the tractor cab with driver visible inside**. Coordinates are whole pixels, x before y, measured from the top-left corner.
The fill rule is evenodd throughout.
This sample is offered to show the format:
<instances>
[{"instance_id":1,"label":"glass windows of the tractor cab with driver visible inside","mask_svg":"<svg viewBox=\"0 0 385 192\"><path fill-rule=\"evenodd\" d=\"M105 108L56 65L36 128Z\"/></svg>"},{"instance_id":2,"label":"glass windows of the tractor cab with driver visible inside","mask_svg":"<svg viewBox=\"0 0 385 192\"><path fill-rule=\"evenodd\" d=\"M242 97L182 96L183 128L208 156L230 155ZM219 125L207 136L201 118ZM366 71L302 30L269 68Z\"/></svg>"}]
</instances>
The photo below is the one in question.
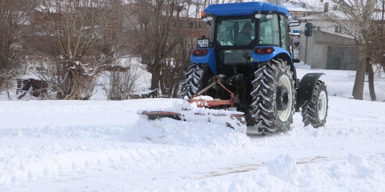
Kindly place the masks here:
<instances>
[{"instance_id":1,"label":"glass windows of the tractor cab with driver visible inside","mask_svg":"<svg viewBox=\"0 0 385 192\"><path fill-rule=\"evenodd\" d=\"M289 51L287 18L277 13L216 17L211 36L210 44L218 51L219 65L247 65L246 59L250 58L245 58L244 54L251 56L257 47L280 46ZM266 50L266 54L273 50Z\"/></svg>"}]
</instances>

